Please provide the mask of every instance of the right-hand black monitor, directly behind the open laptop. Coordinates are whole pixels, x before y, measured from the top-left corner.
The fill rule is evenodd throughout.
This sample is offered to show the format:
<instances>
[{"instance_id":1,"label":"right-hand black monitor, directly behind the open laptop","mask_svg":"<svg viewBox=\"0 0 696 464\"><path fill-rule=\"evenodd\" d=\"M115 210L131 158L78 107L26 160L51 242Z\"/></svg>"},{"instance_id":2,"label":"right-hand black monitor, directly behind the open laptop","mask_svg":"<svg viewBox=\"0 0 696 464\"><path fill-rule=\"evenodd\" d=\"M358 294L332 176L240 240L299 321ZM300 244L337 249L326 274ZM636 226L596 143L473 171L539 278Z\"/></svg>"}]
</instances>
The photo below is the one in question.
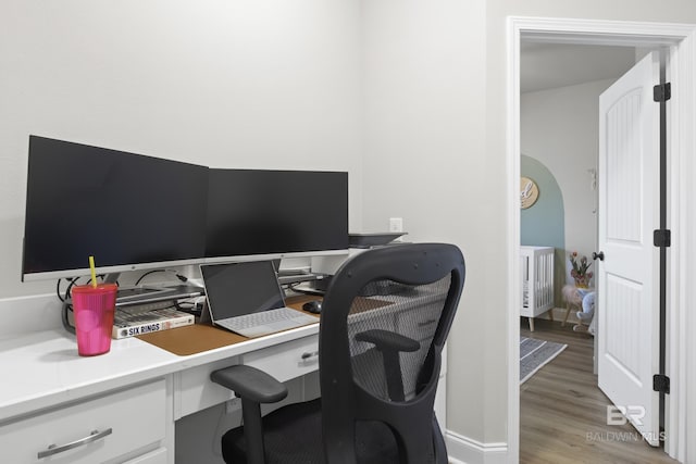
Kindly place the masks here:
<instances>
[{"instance_id":1,"label":"right-hand black monitor, directly behind the open laptop","mask_svg":"<svg viewBox=\"0 0 696 464\"><path fill-rule=\"evenodd\" d=\"M210 170L207 256L348 248L348 173Z\"/></svg>"}]
</instances>

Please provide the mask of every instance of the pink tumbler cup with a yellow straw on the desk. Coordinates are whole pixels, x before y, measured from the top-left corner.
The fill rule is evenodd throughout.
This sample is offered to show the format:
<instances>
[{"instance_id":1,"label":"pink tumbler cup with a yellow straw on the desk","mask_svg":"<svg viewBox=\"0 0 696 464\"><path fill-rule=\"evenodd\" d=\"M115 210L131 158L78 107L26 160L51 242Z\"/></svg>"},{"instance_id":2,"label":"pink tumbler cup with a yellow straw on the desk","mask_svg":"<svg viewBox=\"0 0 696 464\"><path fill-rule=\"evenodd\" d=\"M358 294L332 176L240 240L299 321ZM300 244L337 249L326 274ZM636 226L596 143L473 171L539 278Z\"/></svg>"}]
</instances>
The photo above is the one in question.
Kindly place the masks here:
<instances>
[{"instance_id":1,"label":"pink tumbler cup with a yellow straw on the desk","mask_svg":"<svg viewBox=\"0 0 696 464\"><path fill-rule=\"evenodd\" d=\"M77 353L95 356L111 349L111 329L116 306L115 284L80 285L73 287L73 315L77 335Z\"/></svg>"}]
</instances>

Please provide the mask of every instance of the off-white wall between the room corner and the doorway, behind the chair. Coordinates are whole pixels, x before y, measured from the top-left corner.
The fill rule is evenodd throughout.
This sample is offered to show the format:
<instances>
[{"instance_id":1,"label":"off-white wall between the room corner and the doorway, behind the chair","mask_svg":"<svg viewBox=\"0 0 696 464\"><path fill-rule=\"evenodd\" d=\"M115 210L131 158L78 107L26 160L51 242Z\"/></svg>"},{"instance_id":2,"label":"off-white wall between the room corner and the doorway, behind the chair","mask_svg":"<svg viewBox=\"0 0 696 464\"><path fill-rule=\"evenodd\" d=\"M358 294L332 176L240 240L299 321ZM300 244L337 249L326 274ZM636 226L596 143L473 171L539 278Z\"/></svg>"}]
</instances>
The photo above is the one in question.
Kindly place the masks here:
<instances>
[{"instance_id":1,"label":"off-white wall between the room corner and the doorway, behind the chair","mask_svg":"<svg viewBox=\"0 0 696 464\"><path fill-rule=\"evenodd\" d=\"M447 428L481 441L485 416L505 417L500 398L482 394L485 366L505 363L505 344L485 341L485 321L502 324L505 315L489 308L505 300L487 276L504 234L490 227L488 205L504 193L485 167L484 12L483 2L363 2L364 228L385 230L399 216L407 240L462 248L468 275L448 342Z\"/></svg>"}]
</instances>

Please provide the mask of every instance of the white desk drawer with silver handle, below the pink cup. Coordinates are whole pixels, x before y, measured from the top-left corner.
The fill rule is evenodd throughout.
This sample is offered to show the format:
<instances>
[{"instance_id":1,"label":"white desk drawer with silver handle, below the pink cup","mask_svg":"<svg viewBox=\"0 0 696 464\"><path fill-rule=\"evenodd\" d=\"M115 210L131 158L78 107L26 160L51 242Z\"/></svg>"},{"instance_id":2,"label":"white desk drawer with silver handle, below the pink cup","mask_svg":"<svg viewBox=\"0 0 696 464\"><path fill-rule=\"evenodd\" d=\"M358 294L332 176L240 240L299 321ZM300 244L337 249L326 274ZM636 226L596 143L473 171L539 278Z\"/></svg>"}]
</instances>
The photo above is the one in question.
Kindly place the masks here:
<instances>
[{"instance_id":1,"label":"white desk drawer with silver handle, below the pink cup","mask_svg":"<svg viewBox=\"0 0 696 464\"><path fill-rule=\"evenodd\" d=\"M0 427L2 462L94 464L157 448L165 435L165 399L160 380L9 423ZM77 440L83 444L39 457Z\"/></svg>"}]
</instances>

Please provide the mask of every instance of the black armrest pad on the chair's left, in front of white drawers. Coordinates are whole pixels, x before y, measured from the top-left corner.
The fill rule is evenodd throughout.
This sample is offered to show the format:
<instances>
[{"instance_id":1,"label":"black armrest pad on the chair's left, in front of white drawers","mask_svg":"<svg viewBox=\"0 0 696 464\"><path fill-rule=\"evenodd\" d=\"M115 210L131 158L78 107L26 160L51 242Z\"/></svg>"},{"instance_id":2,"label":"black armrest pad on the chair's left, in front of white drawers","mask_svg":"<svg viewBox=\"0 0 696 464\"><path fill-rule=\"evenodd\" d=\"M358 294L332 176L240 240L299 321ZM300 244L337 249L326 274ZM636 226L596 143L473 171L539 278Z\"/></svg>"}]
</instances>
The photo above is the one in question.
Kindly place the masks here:
<instances>
[{"instance_id":1,"label":"black armrest pad on the chair's left, in front of white drawers","mask_svg":"<svg viewBox=\"0 0 696 464\"><path fill-rule=\"evenodd\" d=\"M287 397L287 387L273 376L244 364L213 371L210 379L257 403L276 403Z\"/></svg>"}]
</instances>

